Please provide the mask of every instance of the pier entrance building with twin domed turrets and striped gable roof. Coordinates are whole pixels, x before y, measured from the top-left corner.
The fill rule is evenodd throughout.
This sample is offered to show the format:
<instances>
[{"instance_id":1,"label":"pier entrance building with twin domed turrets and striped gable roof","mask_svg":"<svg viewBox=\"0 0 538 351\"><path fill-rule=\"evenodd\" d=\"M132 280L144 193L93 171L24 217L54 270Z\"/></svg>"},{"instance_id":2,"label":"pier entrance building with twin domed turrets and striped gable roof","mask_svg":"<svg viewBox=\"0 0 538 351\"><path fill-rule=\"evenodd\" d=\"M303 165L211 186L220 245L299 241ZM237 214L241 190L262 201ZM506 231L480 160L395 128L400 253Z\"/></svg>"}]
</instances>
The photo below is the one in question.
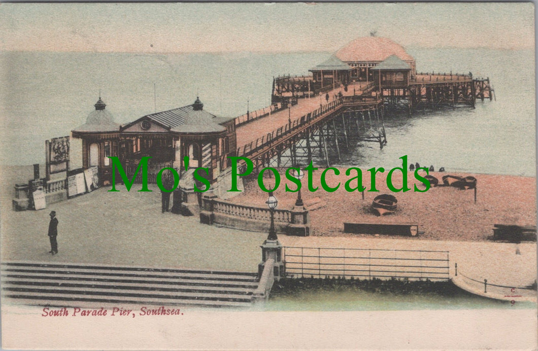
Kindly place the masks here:
<instances>
[{"instance_id":1,"label":"pier entrance building with twin domed turrets and striped gable roof","mask_svg":"<svg viewBox=\"0 0 538 351\"><path fill-rule=\"evenodd\" d=\"M86 123L72 131L74 138L82 139L83 168L97 166L104 185L112 178L109 156L119 157L129 176L141 157L152 157L150 182L164 167L181 171L183 156L189 156L189 166L208 167L207 177L213 182L228 166L227 156L235 155L234 119L205 111L198 98L192 105L147 114L121 126L105 106L99 98Z\"/></svg>"}]
</instances>

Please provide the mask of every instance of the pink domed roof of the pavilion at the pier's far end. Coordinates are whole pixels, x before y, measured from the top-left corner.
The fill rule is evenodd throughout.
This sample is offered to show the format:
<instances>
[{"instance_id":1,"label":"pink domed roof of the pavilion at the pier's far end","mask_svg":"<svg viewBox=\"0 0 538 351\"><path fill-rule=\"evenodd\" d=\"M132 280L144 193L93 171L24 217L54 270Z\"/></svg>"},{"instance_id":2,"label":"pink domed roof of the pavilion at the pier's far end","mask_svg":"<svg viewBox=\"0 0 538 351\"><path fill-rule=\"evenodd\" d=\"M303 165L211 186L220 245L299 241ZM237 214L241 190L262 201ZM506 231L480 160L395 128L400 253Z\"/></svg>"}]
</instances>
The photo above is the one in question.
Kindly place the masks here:
<instances>
[{"instance_id":1,"label":"pink domed roof of the pavilion at the pier's far end","mask_svg":"<svg viewBox=\"0 0 538 351\"><path fill-rule=\"evenodd\" d=\"M335 55L344 62L384 61L391 55L396 55L404 61L415 60L400 44L381 37L357 38L339 49Z\"/></svg>"}]
</instances>

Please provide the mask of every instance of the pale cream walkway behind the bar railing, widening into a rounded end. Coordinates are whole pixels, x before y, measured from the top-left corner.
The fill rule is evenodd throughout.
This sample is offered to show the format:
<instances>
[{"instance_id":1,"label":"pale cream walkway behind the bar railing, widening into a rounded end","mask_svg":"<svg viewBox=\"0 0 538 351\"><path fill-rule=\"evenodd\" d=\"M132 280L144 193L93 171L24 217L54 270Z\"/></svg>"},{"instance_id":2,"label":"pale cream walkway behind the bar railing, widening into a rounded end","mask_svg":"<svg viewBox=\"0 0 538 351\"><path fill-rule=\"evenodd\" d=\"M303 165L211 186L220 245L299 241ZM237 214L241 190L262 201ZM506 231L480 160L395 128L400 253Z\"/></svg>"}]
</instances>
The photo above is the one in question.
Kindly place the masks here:
<instances>
[{"instance_id":1,"label":"pale cream walkway behind the bar railing, widening into a rounded end","mask_svg":"<svg viewBox=\"0 0 538 351\"><path fill-rule=\"evenodd\" d=\"M535 302L536 290L518 289L536 282L536 243L463 242L386 238L288 237L279 235L283 246L371 248L449 251L450 277L460 288L477 295L517 302ZM516 253L518 250L519 254ZM456 276L457 263L458 276ZM477 281L516 288L495 288L465 282L462 274Z\"/></svg>"}]
</instances>

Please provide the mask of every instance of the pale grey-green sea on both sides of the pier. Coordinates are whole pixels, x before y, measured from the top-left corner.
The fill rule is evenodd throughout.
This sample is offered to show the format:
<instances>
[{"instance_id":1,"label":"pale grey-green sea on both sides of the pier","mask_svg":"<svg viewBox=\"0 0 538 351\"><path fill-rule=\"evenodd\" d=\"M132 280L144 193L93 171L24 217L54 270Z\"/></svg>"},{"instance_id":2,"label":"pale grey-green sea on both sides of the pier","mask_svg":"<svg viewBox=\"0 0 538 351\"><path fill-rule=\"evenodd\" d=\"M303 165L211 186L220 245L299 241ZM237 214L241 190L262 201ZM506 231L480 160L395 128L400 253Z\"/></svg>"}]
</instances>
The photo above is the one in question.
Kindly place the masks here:
<instances>
[{"instance_id":1,"label":"pale grey-green sea on both sides of the pier","mask_svg":"<svg viewBox=\"0 0 538 351\"><path fill-rule=\"evenodd\" d=\"M409 47L417 71L489 77L495 101L476 108L387 114L388 144L357 142L341 165L536 175L534 51ZM236 117L271 103L273 77L305 75L329 52L0 52L0 165L44 163L45 140L85 123L101 96L117 123L192 104ZM74 164L76 164L75 162Z\"/></svg>"}]
</instances>

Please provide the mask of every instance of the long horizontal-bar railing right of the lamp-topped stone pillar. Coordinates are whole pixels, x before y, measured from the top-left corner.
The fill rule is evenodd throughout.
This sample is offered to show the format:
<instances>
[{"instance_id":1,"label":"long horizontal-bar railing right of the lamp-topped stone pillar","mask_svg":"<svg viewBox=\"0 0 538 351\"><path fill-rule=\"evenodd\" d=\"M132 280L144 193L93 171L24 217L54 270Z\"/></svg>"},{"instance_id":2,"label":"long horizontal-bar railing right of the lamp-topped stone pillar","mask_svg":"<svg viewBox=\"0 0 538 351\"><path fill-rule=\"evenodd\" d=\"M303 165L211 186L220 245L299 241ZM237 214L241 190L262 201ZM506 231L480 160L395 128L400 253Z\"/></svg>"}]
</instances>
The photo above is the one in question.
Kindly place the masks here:
<instances>
[{"instance_id":1,"label":"long horizontal-bar railing right of the lamp-topped stone pillar","mask_svg":"<svg viewBox=\"0 0 538 351\"><path fill-rule=\"evenodd\" d=\"M286 276L449 280L448 251L284 247Z\"/></svg>"}]
</instances>

